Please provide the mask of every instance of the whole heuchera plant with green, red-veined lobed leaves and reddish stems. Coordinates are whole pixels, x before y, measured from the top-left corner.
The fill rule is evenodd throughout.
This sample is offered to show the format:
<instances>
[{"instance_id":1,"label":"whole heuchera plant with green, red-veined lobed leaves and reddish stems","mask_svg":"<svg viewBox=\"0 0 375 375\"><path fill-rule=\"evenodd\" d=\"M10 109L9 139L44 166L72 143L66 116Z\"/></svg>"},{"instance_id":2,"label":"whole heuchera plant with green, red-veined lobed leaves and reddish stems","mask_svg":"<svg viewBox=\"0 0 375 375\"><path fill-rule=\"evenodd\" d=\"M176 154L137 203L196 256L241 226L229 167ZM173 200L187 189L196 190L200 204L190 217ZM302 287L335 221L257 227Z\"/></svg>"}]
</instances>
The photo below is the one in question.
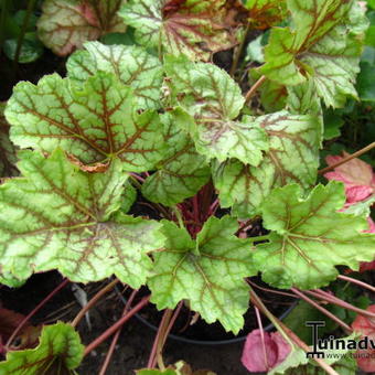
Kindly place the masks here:
<instances>
[{"instance_id":1,"label":"whole heuchera plant with green, red-veined lobed leaves and reddish stems","mask_svg":"<svg viewBox=\"0 0 375 375\"><path fill-rule=\"evenodd\" d=\"M137 45L83 44L127 26ZM268 28L265 64L250 72L245 93L235 79L242 47L251 30ZM358 270L374 260L367 215L341 212L345 188L356 184L344 167L325 175L345 186L317 184L322 107L357 97L366 28L354 0L45 1L41 39L58 54L83 49L69 56L66 77L19 83L0 118L12 141L1 140L1 170L20 173L0 186L1 282L17 287L51 269L85 283L114 275L151 291L121 324L149 299L167 309L165 321L189 301L235 334L251 301L280 331L262 343L283 340L282 355L266 349L264 369L318 368L246 278L260 272L270 286L302 293L338 279L336 266ZM212 58L233 46L229 75ZM339 160L328 161L332 170ZM372 199L373 178L360 185L354 195ZM140 197L153 219L129 214ZM267 234L248 236L259 219ZM45 326L39 346L11 352L0 373L58 366L74 374L97 343L84 352L73 326ZM195 374L181 363L162 367L138 374Z\"/></svg>"}]
</instances>

